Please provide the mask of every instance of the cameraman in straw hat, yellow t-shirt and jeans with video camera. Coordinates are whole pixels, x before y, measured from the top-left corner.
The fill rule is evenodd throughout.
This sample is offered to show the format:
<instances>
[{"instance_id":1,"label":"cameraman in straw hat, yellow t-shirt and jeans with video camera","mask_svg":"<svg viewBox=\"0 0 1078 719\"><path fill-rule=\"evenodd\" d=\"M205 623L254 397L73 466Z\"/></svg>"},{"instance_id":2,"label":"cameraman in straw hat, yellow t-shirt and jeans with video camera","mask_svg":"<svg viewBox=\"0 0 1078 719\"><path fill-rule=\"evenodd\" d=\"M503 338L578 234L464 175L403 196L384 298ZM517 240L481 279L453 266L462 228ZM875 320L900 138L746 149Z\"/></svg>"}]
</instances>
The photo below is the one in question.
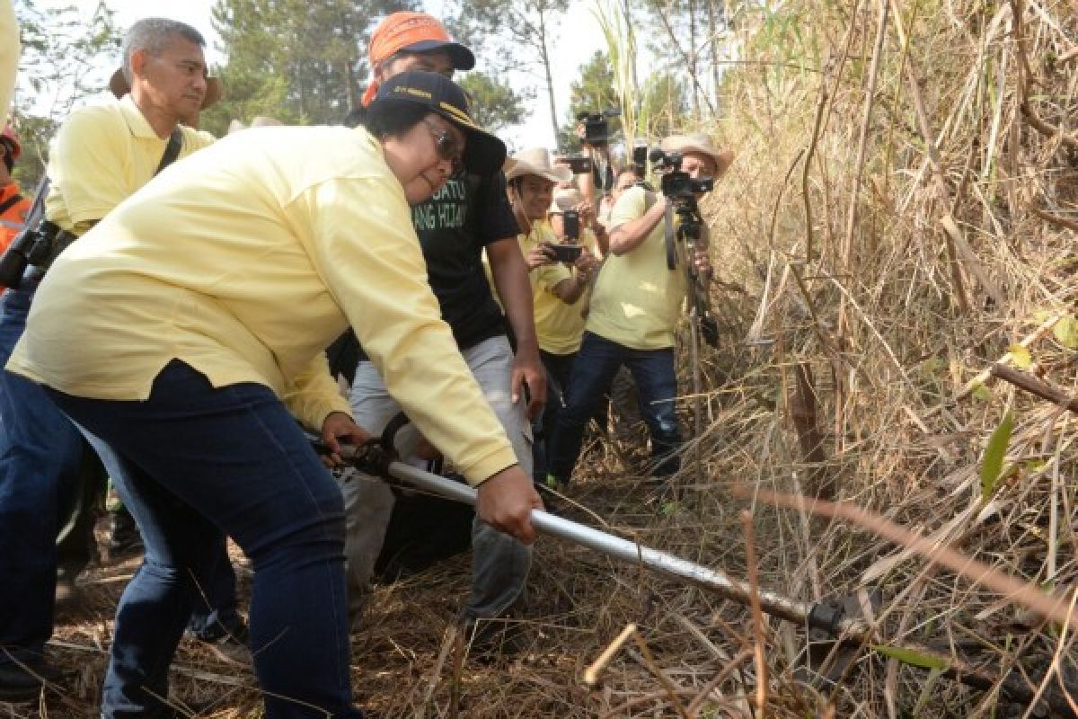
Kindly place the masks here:
<instances>
[{"instance_id":1,"label":"cameraman in straw hat, yellow t-shirt and jeans with video camera","mask_svg":"<svg viewBox=\"0 0 1078 719\"><path fill-rule=\"evenodd\" d=\"M675 330L686 298L687 275L693 273L706 281L711 264L706 227L701 227L704 232L691 255L686 257L687 244L671 245L667 240L674 230L671 216L676 206L691 203L694 207L704 194L701 189L725 171L733 153L716 150L709 139L700 136L668 137L662 149L673 169L667 177L675 180L664 178L663 186L675 197L632 188L622 193L610 215L610 254L592 292L566 406L550 442L548 480L557 484L564 485L571 478L588 419L623 364L639 388L640 410L651 434L653 476L662 481L679 468ZM682 213L677 213L680 219ZM668 247L675 250L673 257Z\"/></svg>"}]
</instances>

